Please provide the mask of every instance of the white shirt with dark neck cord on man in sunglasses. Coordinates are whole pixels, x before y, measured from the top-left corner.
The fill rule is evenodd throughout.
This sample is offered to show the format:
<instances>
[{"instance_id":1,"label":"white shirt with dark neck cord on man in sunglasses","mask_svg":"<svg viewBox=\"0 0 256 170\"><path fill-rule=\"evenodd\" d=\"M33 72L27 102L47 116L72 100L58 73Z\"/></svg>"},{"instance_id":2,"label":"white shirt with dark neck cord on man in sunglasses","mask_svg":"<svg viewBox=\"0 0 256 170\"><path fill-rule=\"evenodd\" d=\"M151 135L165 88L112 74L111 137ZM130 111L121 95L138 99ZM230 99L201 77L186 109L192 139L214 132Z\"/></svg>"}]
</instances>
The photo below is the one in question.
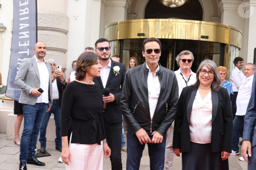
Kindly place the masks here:
<instances>
[{"instance_id":1,"label":"white shirt with dark neck cord on man in sunglasses","mask_svg":"<svg viewBox=\"0 0 256 170\"><path fill-rule=\"evenodd\" d=\"M196 73L192 72L191 69L188 79L181 73L181 69L178 69L174 73L176 74L178 86L179 86L179 97L181 95L181 91L184 87L190 86L191 84L196 83Z\"/></svg>"}]
</instances>

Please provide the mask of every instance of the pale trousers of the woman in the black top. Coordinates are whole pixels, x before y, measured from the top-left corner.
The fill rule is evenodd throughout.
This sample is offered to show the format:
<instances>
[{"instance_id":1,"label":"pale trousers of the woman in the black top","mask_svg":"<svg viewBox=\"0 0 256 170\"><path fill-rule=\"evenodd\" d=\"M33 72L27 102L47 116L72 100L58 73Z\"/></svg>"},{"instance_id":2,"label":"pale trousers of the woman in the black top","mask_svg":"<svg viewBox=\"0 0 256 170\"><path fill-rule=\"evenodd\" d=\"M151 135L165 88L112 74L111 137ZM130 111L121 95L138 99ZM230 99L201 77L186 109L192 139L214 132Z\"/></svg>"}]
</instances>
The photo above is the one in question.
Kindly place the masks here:
<instances>
[{"instance_id":1,"label":"pale trousers of the woman in the black top","mask_svg":"<svg viewBox=\"0 0 256 170\"><path fill-rule=\"evenodd\" d=\"M70 137L70 141L72 134ZM103 141L101 145L83 145L69 143L72 162L68 161L66 170L102 170Z\"/></svg>"}]
</instances>

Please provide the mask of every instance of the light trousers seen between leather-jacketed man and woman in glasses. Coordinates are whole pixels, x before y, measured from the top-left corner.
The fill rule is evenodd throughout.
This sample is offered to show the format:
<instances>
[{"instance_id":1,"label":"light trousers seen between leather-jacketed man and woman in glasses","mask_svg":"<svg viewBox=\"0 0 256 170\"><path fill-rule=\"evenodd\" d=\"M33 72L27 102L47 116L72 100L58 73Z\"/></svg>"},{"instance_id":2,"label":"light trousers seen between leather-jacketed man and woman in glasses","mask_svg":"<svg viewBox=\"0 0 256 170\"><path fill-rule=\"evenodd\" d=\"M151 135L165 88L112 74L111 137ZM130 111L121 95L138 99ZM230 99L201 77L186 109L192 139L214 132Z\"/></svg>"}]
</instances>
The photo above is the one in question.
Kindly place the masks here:
<instances>
[{"instance_id":1,"label":"light trousers seen between leather-jacketed man and woman in glasses","mask_svg":"<svg viewBox=\"0 0 256 170\"><path fill-rule=\"evenodd\" d=\"M166 132L166 152L165 152L165 167L164 170L173 170L173 129L174 121Z\"/></svg>"}]
</instances>

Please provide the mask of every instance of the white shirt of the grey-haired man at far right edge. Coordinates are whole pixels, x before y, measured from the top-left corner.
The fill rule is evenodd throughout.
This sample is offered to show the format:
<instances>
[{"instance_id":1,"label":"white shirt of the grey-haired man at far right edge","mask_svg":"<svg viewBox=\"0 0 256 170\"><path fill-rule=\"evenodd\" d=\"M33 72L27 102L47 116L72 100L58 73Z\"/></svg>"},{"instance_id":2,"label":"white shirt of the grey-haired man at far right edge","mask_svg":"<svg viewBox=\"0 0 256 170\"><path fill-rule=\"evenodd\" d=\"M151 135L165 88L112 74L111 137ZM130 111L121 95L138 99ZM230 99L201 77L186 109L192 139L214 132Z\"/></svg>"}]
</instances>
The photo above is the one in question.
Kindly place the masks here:
<instances>
[{"instance_id":1,"label":"white shirt of the grey-haired man at far right edge","mask_svg":"<svg viewBox=\"0 0 256 170\"><path fill-rule=\"evenodd\" d=\"M252 93L253 76L244 78L237 94L237 113L238 116L244 116Z\"/></svg>"}]
</instances>

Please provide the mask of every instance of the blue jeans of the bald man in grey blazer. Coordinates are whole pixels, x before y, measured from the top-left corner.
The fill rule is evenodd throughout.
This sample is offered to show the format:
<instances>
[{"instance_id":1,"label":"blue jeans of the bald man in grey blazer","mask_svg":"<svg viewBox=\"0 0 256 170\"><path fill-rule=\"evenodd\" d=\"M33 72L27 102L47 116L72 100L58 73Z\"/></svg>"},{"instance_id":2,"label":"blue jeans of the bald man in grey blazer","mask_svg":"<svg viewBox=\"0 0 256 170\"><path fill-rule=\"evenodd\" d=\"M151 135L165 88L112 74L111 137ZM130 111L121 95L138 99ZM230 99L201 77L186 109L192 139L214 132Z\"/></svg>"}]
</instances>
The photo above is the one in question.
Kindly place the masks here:
<instances>
[{"instance_id":1,"label":"blue jeans of the bald man in grey blazer","mask_svg":"<svg viewBox=\"0 0 256 170\"><path fill-rule=\"evenodd\" d=\"M20 140L20 162L34 157L39 130L47 108L47 103L23 104L24 128Z\"/></svg>"}]
</instances>

